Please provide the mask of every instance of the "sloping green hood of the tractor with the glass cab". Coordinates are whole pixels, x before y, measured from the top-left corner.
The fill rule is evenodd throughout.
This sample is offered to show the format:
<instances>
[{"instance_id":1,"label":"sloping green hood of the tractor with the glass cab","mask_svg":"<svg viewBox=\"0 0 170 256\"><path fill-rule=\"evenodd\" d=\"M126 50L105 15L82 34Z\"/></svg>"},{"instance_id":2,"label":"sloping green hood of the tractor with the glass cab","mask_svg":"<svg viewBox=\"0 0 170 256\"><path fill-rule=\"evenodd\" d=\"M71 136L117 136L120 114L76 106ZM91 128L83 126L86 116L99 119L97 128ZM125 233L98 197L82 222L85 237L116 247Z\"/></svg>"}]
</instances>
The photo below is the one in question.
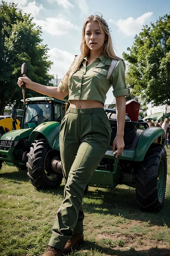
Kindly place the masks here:
<instances>
[{"instance_id":1,"label":"sloping green hood of the tractor with the glass cab","mask_svg":"<svg viewBox=\"0 0 170 256\"><path fill-rule=\"evenodd\" d=\"M34 128L9 131L8 133L3 134L1 136L0 140L13 141L13 140L24 139L24 138L28 137L32 133L33 130L34 130Z\"/></svg>"}]
</instances>

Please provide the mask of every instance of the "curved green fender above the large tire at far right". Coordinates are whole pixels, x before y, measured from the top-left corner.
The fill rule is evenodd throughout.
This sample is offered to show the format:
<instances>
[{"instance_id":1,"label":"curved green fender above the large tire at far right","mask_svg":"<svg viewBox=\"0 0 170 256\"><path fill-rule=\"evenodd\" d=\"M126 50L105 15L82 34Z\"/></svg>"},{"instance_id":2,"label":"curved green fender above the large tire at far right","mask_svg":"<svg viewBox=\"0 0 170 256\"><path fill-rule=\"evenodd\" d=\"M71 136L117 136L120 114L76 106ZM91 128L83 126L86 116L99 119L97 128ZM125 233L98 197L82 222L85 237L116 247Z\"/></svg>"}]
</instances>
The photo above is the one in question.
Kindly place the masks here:
<instances>
[{"instance_id":1,"label":"curved green fender above the large tire at far right","mask_svg":"<svg viewBox=\"0 0 170 256\"><path fill-rule=\"evenodd\" d=\"M152 143L165 144L165 131L161 127L148 127L141 134L134 156L134 161L143 161L148 148Z\"/></svg>"}]
</instances>

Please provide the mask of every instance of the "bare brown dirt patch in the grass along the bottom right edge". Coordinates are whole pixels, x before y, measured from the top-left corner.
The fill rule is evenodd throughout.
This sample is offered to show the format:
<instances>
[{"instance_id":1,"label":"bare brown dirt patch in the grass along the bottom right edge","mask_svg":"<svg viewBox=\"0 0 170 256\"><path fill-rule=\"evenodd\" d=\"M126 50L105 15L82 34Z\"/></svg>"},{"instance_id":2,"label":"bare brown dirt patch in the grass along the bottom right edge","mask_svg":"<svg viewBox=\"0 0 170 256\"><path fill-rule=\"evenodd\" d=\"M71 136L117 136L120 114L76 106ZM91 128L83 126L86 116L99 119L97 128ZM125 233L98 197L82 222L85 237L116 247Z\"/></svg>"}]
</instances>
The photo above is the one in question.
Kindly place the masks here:
<instances>
[{"instance_id":1,"label":"bare brown dirt patch in the grass along the bottom right edge","mask_svg":"<svg viewBox=\"0 0 170 256\"><path fill-rule=\"evenodd\" d=\"M118 249L125 251L129 249L130 247L134 247L136 251L141 251L141 250L149 250L151 248L157 247L158 249L169 249L170 246L167 242L165 241L157 241L157 240L152 240L148 239L145 235L142 233L134 234L120 234L120 233L115 233L115 234L99 234L96 237L96 242L99 239L111 239L113 241L118 241L118 240L123 240L124 246L123 247L115 247L114 249ZM170 252L169 252L170 253ZM170 255L170 254L169 254Z\"/></svg>"}]
</instances>

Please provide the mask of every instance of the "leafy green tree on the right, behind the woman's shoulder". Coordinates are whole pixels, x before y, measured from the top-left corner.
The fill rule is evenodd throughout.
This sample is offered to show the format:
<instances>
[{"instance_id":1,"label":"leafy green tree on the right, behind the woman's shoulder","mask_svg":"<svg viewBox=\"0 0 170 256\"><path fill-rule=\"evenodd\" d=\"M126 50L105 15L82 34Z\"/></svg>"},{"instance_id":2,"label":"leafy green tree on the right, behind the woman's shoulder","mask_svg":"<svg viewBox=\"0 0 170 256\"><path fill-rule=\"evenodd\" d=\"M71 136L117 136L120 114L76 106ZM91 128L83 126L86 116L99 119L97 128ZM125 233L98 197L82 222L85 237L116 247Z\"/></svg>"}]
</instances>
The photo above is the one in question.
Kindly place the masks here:
<instances>
[{"instance_id":1,"label":"leafy green tree on the right, behind the woman's shoulder","mask_svg":"<svg viewBox=\"0 0 170 256\"><path fill-rule=\"evenodd\" d=\"M144 26L136 35L129 54L127 85L131 94L152 105L170 104L170 15Z\"/></svg>"}]
</instances>

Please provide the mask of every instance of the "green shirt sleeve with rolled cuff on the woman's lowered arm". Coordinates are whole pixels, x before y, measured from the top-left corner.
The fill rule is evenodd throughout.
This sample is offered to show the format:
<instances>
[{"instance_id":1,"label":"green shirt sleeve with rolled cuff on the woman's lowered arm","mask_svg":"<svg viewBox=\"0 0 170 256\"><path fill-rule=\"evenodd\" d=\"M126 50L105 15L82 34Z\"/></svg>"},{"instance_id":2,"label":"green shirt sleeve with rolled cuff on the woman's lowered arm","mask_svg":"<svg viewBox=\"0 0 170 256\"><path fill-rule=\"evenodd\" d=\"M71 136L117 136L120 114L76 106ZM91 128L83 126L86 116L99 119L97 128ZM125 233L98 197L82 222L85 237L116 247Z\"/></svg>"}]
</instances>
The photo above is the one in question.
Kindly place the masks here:
<instances>
[{"instance_id":1,"label":"green shirt sleeve with rolled cuff on the woman's lowered arm","mask_svg":"<svg viewBox=\"0 0 170 256\"><path fill-rule=\"evenodd\" d=\"M113 69L112 75L110 76L114 97L127 96L129 94L126 87L125 68L126 66L124 61L119 60Z\"/></svg>"}]
</instances>

